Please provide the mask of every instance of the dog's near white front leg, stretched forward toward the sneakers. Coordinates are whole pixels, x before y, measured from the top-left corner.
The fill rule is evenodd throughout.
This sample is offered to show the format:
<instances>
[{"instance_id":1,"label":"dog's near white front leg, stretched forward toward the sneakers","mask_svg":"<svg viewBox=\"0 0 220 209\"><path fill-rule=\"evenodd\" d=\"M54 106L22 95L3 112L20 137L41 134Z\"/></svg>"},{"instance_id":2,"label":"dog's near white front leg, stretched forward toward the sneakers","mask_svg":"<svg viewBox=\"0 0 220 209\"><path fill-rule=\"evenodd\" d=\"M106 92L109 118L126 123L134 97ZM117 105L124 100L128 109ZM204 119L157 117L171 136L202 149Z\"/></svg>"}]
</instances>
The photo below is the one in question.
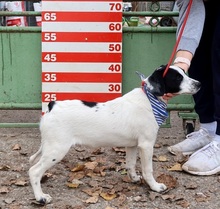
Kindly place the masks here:
<instances>
[{"instance_id":1,"label":"dog's near white front leg, stretched forward toward the sneakers","mask_svg":"<svg viewBox=\"0 0 220 209\"><path fill-rule=\"evenodd\" d=\"M153 177L153 146L154 145L151 142L145 142L139 145L142 175L152 190L162 192L166 190L167 187L162 183L156 182Z\"/></svg>"}]
</instances>

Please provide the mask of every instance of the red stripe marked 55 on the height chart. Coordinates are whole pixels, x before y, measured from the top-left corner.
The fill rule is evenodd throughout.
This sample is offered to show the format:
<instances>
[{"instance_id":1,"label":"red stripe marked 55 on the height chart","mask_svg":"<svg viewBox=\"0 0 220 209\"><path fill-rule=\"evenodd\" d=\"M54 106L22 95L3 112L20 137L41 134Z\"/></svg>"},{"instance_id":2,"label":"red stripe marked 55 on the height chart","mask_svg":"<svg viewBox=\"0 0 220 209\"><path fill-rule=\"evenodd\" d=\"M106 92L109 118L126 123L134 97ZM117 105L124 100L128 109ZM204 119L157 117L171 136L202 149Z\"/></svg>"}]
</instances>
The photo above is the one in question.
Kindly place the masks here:
<instances>
[{"instance_id":1,"label":"red stripe marked 55 on the height chart","mask_svg":"<svg viewBox=\"0 0 220 209\"><path fill-rule=\"evenodd\" d=\"M45 40L46 37L46 40ZM48 40L48 37L50 40ZM55 38L54 38L55 37ZM55 39L55 40L54 40ZM44 42L121 42L122 33L96 33L96 32L42 32Z\"/></svg>"}]
</instances>

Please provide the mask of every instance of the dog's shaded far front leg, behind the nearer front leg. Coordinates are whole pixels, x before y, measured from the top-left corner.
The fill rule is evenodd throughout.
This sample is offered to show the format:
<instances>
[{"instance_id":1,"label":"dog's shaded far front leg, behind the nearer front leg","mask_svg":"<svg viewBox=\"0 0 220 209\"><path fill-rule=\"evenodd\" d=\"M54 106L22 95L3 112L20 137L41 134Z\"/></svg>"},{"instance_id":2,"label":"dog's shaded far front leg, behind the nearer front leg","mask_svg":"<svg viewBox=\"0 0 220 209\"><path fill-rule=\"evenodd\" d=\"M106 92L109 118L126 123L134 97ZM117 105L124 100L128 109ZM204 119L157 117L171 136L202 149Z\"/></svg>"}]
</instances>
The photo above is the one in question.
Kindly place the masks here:
<instances>
[{"instance_id":1,"label":"dog's shaded far front leg, behind the nearer front leg","mask_svg":"<svg viewBox=\"0 0 220 209\"><path fill-rule=\"evenodd\" d=\"M126 168L128 175L133 182L140 181L137 175L135 165L137 161L137 147L126 147Z\"/></svg>"}]
</instances>

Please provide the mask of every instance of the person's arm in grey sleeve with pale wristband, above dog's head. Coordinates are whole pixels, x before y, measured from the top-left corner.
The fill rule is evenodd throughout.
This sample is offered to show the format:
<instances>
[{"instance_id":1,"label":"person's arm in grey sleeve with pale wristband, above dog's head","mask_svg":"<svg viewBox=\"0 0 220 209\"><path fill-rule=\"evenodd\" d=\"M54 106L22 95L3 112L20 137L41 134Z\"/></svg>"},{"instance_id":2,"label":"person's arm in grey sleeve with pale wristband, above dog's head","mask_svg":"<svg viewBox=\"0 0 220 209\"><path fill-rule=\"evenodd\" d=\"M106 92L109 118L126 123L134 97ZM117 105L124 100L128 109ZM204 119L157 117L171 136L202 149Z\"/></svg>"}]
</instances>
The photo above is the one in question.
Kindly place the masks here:
<instances>
[{"instance_id":1,"label":"person's arm in grey sleeve with pale wristband, above dog's head","mask_svg":"<svg viewBox=\"0 0 220 209\"><path fill-rule=\"evenodd\" d=\"M189 0L177 0L179 7L179 19L177 37L183 25ZM177 48L174 65L179 66L186 72L190 67L191 60L199 45L205 21L205 7L203 0L193 0L190 13Z\"/></svg>"}]
</instances>

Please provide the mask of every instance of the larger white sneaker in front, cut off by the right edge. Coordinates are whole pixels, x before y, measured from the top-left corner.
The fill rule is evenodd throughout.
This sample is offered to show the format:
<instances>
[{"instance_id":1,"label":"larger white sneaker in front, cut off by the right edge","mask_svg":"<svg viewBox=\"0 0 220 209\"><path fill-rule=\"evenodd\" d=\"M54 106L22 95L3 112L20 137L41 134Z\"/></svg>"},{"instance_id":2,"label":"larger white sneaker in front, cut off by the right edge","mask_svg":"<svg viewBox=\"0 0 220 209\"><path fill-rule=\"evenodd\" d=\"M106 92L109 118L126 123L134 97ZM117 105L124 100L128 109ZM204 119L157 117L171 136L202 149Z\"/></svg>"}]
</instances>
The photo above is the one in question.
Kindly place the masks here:
<instances>
[{"instance_id":1,"label":"larger white sneaker in front, cut off by the right edge","mask_svg":"<svg viewBox=\"0 0 220 209\"><path fill-rule=\"evenodd\" d=\"M212 141L192 154L182 169L195 175L213 175L220 172L220 142Z\"/></svg>"}]
</instances>

